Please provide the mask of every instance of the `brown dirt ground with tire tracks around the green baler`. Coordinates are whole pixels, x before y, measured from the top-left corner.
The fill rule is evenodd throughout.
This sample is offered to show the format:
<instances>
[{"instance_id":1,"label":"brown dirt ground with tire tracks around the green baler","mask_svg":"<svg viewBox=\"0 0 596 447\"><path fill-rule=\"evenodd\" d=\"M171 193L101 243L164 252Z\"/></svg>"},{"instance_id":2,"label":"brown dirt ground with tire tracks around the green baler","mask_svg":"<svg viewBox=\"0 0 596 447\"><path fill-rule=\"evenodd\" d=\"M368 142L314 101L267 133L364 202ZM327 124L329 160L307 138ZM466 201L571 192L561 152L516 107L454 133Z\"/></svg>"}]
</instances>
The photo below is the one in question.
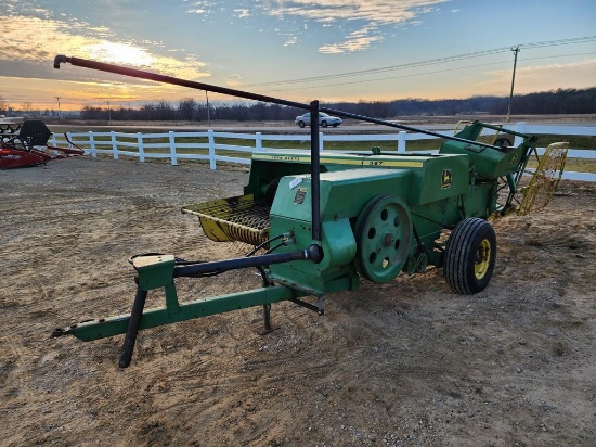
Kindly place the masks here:
<instances>
[{"instance_id":1,"label":"brown dirt ground with tire tracks around the green baler","mask_svg":"<svg viewBox=\"0 0 596 447\"><path fill-rule=\"evenodd\" d=\"M146 252L223 259L180 213L235 195L246 168L107 158L0 171L0 445L595 446L596 184L495 222L475 296L440 270L362 282L325 315L273 305L122 336L51 339L130 311ZM255 271L177 280L181 301L260 285ZM147 307L163 305L150 294Z\"/></svg>"}]
</instances>

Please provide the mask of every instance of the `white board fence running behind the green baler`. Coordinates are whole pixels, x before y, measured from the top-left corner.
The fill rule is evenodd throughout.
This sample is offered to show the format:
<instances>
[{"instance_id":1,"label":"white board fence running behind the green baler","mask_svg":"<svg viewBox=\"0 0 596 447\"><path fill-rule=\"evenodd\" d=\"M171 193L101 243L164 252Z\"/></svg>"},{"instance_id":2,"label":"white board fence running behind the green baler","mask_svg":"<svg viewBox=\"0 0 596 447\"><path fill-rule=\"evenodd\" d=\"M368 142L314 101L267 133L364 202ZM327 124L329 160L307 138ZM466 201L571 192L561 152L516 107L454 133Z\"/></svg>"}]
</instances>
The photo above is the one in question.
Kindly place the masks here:
<instances>
[{"instance_id":1,"label":"white board fence running behind the green baler","mask_svg":"<svg viewBox=\"0 0 596 447\"><path fill-rule=\"evenodd\" d=\"M596 136L596 126L545 126L530 125L526 123L517 123L515 125L504 126L506 129L515 130L521 133L532 135L559 135L561 140L565 136ZM438 131L436 133L453 136L454 131ZM125 133L125 132L77 132L66 133L69 141L77 146L85 149L87 155L96 157L98 154L111 154L114 159L118 159L120 155L138 157L140 162L146 158L170 158L173 166L178 165L179 159L206 159L209 161L211 169L217 168L217 162L250 164L249 157L222 155L225 152L244 152L252 153L267 149L268 141L295 141L305 144L305 149L310 149L310 135L293 133L293 135L262 135L255 133L236 133L236 132L219 132L213 130L192 131L192 132L174 132L165 133ZM425 133L414 133L399 131L397 133L375 133L375 135L340 135L340 133L323 133L319 135L320 148L325 149L326 142L341 141L362 141L362 142L379 142L394 141L396 153L405 153L407 141L435 139L436 137ZM189 139L199 139L205 142L187 142ZM249 141L249 145L231 145L218 143L218 139L236 139ZM164 141L165 140L165 141ZM53 145L68 144L65 137L62 135L52 136ZM519 137L516 137L515 145L519 144ZM197 151L198 150L198 151ZM197 152L193 152L197 151ZM544 148L539 149L542 154ZM359 151L362 152L362 151ZM425 151L428 152L428 151ZM596 159L596 148L594 150L575 150L570 149L569 158ZM565 179L595 181L596 174L592 173L573 173L565 171Z\"/></svg>"}]
</instances>

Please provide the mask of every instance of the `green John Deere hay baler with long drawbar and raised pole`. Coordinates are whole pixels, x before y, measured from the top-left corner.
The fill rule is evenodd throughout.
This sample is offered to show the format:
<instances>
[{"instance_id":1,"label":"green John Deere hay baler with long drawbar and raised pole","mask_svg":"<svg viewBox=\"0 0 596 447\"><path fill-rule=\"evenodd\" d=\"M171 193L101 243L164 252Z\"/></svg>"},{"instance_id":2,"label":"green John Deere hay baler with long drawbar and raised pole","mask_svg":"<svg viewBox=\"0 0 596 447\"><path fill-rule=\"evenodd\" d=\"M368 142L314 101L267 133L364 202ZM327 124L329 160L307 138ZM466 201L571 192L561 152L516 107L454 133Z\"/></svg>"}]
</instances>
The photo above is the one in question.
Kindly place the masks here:
<instances>
[{"instance_id":1,"label":"green John Deere hay baler with long drawbar and raised pole","mask_svg":"<svg viewBox=\"0 0 596 447\"><path fill-rule=\"evenodd\" d=\"M60 328L54 336L91 341L126 334L119 361L126 368L143 329L263 306L267 332L272 330L272 303L289 301L322 315L328 293L355 290L362 279L388 283L402 272L424 273L429 266L443 268L446 282L457 293L478 293L489 284L496 235L487 219L515 207L536 137L480 122L445 137L322 107L318 101L302 104L78 58L59 55L54 66L66 62L293 106L309 111L313 119L310 151L256 152L242 195L182 208L198 217L213 241L254 246L246 257L204 263L169 254L133 256L137 294L131 314ZM376 148L349 154L320 152L320 112L422 132L444 142L438 154L383 153ZM482 142L480 136L487 130L519 143ZM500 203L505 188L509 193ZM262 288L191 302L178 298L177 278L212 277L243 268L257 268ZM165 292L165 307L144 309L147 293L157 289Z\"/></svg>"}]
</instances>

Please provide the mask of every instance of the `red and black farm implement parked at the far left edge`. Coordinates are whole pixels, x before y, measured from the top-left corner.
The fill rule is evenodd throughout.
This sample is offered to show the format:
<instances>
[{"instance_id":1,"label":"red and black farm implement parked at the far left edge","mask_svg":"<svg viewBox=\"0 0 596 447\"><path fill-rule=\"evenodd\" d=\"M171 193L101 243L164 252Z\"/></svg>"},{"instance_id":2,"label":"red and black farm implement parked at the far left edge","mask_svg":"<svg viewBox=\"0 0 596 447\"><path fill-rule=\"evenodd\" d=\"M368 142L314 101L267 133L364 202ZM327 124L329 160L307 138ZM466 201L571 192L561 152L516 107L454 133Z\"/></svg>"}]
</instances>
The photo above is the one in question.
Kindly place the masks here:
<instances>
[{"instance_id":1,"label":"red and black farm implement parked at the far left edge","mask_svg":"<svg viewBox=\"0 0 596 447\"><path fill-rule=\"evenodd\" d=\"M40 120L0 122L0 169L37 166L56 158L85 154L80 149L48 145L51 135Z\"/></svg>"}]
</instances>

